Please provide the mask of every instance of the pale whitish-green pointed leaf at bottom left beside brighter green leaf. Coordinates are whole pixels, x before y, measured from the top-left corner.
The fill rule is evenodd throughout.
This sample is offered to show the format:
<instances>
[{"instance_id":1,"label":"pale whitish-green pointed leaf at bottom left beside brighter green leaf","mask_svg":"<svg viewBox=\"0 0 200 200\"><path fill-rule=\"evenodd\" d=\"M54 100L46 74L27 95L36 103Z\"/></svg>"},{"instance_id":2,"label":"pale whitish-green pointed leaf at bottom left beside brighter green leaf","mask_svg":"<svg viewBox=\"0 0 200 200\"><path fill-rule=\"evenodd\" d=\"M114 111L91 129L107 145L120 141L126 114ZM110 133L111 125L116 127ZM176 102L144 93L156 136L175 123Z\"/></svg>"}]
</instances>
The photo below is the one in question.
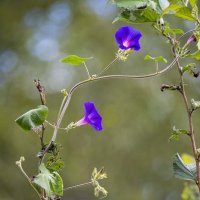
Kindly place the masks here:
<instances>
[{"instance_id":1,"label":"pale whitish-green pointed leaf at bottom left beside brighter green leaf","mask_svg":"<svg viewBox=\"0 0 200 200\"><path fill-rule=\"evenodd\" d=\"M34 178L33 182L43 188L48 197L51 197L53 191L50 184L55 184L55 177L45 167L44 163L41 163L39 170L40 173Z\"/></svg>"}]
</instances>

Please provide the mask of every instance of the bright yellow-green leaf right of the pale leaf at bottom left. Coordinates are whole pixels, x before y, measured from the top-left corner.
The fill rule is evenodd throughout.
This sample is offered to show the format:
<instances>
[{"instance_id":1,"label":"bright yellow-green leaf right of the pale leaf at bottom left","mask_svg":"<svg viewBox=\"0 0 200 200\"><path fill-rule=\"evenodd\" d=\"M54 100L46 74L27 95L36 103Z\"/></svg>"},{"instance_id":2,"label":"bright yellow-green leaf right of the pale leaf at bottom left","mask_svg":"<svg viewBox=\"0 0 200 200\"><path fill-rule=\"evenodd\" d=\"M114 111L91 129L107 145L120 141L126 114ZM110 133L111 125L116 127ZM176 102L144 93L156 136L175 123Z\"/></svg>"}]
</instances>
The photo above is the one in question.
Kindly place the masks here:
<instances>
[{"instance_id":1,"label":"bright yellow-green leaf right of the pale leaf at bottom left","mask_svg":"<svg viewBox=\"0 0 200 200\"><path fill-rule=\"evenodd\" d=\"M54 181L51 182L51 189L57 196L63 196L63 180L57 172L53 172Z\"/></svg>"}]
</instances>

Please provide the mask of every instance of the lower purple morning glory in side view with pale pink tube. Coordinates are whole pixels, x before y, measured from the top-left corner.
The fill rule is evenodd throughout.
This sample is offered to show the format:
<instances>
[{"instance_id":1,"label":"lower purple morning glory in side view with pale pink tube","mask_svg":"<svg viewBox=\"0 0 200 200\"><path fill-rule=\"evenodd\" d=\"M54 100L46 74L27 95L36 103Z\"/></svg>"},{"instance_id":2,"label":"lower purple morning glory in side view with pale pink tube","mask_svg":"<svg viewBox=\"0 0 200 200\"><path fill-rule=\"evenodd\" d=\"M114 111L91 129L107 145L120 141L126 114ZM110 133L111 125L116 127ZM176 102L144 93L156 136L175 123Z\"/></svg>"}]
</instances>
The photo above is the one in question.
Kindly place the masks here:
<instances>
[{"instance_id":1,"label":"lower purple morning glory in side view with pale pink tube","mask_svg":"<svg viewBox=\"0 0 200 200\"><path fill-rule=\"evenodd\" d=\"M76 122L76 126L82 126L85 124L89 124L92 126L96 131L102 131L102 117L97 112L94 103L92 102L85 102L85 116Z\"/></svg>"}]
</instances>

